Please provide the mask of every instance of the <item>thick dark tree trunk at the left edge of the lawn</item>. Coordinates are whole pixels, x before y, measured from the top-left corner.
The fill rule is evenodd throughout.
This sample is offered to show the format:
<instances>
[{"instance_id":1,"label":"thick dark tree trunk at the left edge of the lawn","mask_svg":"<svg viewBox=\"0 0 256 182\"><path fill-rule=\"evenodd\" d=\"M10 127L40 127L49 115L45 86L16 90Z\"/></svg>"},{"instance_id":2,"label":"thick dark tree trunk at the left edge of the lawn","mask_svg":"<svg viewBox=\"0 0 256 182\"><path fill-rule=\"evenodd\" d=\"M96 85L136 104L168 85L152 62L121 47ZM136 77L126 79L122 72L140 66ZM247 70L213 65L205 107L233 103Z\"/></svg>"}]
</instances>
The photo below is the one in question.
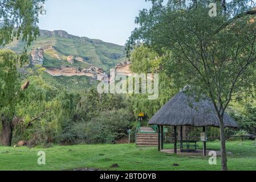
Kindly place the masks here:
<instances>
[{"instance_id":1,"label":"thick dark tree trunk at the left edge of the lawn","mask_svg":"<svg viewBox=\"0 0 256 182\"><path fill-rule=\"evenodd\" d=\"M2 120L2 144L3 146L11 146L11 139L13 139L13 126L9 119Z\"/></svg>"}]
</instances>

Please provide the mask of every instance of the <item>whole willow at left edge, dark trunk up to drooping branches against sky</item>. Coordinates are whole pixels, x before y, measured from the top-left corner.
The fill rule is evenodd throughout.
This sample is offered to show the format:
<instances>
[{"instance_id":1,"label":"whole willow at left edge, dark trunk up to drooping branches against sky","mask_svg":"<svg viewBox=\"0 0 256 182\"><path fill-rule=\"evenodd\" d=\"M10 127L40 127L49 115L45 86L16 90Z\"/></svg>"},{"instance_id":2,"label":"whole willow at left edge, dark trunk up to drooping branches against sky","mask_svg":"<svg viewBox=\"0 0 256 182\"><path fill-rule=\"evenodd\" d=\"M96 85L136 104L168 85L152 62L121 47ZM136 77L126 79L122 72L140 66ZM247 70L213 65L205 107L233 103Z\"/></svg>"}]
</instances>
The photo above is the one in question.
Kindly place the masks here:
<instances>
[{"instance_id":1,"label":"whole willow at left edge, dark trunk up to drooping branches against sky","mask_svg":"<svg viewBox=\"0 0 256 182\"><path fill-rule=\"evenodd\" d=\"M39 35L38 17L44 13L45 0L0 0L0 46L6 46L14 39L26 42L24 51L17 56L14 52L0 51L0 121L2 122L2 143L11 144L15 121L14 107L19 99L21 75L17 67L27 60L27 47Z\"/></svg>"}]
</instances>

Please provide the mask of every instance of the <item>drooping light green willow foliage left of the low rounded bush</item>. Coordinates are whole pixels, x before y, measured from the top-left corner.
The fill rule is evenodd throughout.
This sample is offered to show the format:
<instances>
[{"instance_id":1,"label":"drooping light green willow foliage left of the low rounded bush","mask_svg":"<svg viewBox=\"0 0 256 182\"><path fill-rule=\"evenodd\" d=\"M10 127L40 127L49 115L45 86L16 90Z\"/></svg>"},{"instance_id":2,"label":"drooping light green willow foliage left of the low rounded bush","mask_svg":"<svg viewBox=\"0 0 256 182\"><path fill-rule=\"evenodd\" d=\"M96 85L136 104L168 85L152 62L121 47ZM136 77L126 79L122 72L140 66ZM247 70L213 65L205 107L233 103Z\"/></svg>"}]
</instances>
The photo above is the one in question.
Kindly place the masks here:
<instances>
[{"instance_id":1,"label":"drooping light green willow foliage left of the low rounded bush","mask_svg":"<svg viewBox=\"0 0 256 182\"><path fill-rule=\"evenodd\" d=\"M42 78L41 78L42 79ZM19 117L23 117L21 128L16 128L15 139L29 140L31 145L58 143L60 134L74 122L74 113L79 95L59 92L36 79L26 91L26 100L19 107ZM44 114L42 114L44 113ZM32 121L32 119L40 118Z\"/></svg>"}]
</instances>

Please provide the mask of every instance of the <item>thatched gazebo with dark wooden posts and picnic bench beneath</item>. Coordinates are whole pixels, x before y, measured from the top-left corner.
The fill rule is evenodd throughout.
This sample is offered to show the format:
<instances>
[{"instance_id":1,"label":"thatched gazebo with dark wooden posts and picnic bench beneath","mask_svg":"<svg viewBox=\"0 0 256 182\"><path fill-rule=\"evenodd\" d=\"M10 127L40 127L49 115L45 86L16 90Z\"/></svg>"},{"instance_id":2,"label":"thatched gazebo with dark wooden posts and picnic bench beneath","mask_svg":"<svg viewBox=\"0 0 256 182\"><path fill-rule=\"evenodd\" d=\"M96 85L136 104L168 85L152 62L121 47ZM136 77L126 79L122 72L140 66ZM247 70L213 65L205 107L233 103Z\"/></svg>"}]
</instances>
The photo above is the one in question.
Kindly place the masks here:
<instances>
[{"instance_id":1,"label":"thatched gazebo with dark wooden posts and picnic bench beneath","mask_svg":"<svg viewBox=\"0 0 256 182\"><path fill-rule=\"evenodd\" d=\"M180 152L197 151L199 147L195 140L183 140L182 126L202 127L201 141L203 142L203 155L206 155L206 127L220 127L219 119L212 102L201 100L196 102L193 97L180 92L167 102L149 120L149 125L157 125L158 149L164 149L164 126L174 127L174 154L177 154L177 127L180 127ZM237 127L237 123L226 113L224 114L225 127Z\"/></svg>"}]
</instances>

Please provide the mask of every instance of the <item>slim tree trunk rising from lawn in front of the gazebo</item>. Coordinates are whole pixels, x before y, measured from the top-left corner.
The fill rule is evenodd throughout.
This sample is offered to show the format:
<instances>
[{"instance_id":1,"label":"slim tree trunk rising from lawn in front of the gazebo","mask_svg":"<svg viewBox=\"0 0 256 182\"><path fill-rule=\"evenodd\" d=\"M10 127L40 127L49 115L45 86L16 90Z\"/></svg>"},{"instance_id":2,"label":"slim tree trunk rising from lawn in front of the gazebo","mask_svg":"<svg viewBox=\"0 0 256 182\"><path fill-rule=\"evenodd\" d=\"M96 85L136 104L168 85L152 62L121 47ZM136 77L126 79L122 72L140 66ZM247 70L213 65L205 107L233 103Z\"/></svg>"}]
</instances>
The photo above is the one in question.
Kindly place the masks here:
<instances>
[{"instance_id":1,"label":"slim tree trunk rising from lawn in front of the gazebo","mask_svg":"<svg viewBox=\"0 0 256 182\"><path fill-rule=\"evenodd\" d=\"M223 117L220 117L220 137L221 137L221 167L222 171L227 171L226 137Z\"/></svg>"}]
</instances>

